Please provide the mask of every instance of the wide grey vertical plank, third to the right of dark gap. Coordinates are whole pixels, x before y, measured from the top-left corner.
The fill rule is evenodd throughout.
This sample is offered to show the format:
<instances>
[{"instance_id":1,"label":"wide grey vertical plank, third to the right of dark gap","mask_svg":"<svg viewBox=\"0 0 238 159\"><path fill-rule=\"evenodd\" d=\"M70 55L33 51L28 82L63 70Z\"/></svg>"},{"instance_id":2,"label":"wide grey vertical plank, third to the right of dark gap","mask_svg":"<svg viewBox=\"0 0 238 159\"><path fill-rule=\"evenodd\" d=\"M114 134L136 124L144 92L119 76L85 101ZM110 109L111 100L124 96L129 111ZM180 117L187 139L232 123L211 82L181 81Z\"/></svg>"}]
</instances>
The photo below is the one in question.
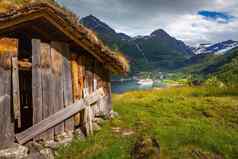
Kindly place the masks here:
<instances>
[{"instance_id":1,"label":"wide grey vertical plank, third to the right of dark gap","mask_svg":"<svg viewBox=\"0 0 238 159\"><path fill-rule=\"evenodd\" d=\"M51 105L53 105L54 112L58 112L64 108L62 45L63 43L60 42L51 42L51 67L53 76L51 82L53 87L51 90ZM57 125L54 129L55 136L61 135L64 132L64 123Z\"/></svg>"}]
</instances>

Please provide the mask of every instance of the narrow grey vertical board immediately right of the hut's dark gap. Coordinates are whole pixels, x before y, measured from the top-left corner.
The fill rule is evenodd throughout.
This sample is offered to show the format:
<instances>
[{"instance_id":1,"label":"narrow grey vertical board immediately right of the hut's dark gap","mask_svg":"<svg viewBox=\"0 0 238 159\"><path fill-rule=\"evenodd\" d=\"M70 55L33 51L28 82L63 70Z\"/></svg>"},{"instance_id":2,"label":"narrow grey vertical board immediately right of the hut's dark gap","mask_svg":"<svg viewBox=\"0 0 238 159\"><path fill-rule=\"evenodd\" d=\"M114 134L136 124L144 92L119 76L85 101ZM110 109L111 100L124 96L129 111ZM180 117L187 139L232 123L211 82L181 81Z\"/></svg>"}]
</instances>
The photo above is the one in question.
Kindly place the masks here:
<instances>
[{"instance_id":1,"label":"narrow grey vertical board immediately right of the hut's dark gap","mask_svg":"<svg viewBox=\"0 0 238 159\"><path fill-rule=\"evenodd\" d=\"M34 125L43 119L40 43L38 39L32 40L32 104ZM35 138L35 140L38 139L40 138Z\"/></svg>"}]
</instances>

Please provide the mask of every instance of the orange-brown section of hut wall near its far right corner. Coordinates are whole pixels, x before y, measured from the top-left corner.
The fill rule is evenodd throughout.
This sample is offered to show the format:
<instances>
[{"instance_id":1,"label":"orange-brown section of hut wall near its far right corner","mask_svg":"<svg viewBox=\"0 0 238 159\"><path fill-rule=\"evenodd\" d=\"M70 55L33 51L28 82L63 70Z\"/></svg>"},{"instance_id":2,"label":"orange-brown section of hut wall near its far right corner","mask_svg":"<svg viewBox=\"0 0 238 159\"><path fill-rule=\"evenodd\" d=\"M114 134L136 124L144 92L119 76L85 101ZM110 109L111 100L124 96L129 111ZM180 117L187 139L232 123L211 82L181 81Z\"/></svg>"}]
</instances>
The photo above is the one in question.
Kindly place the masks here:
<instances>
[{"instance_id":1,"label":"orange-brown section of hut wall near its far right corner","mask_svg":"<svg viewBox=\"0 0 238 159\"><path fill-rule=\"evenodd\" d=\"M103 87L106 96L92 107L92 111L94 116L108 115L112 109L109 71L89 54L81 52L71 55L74 100L79 100ZM80 114L75 116L75 124L80 124Z\"/></svg>"}]
</instances>

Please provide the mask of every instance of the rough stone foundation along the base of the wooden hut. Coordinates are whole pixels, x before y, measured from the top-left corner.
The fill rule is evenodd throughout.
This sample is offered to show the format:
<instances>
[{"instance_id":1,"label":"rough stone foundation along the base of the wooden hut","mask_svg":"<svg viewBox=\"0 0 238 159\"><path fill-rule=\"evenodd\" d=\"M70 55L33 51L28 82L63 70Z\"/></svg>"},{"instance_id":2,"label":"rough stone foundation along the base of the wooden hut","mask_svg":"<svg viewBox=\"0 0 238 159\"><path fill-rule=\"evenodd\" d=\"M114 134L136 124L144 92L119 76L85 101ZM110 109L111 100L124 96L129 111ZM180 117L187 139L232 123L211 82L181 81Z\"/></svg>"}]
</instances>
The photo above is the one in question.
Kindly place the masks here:
<instances>
[{"instance_id":1,"label":"rough stone foundation along the base of the wooden hut","mask_svg":"<svg viewBox=\"0 0 238 159\"><path fill-rule=\"evenodd\" d=\"M110 112L108 118L117 116L115 112ZM104 117L95 117L93 120L93 131L97 132L105 122ZM25 146L14 144L8 149L0 150L0 159L54 159L56 151L60 146L70 144L74 137L85 139L81 129L74 132L64 133L55 137L55 140L47 142L29 142Z\"/></svg>"}]
</instances>

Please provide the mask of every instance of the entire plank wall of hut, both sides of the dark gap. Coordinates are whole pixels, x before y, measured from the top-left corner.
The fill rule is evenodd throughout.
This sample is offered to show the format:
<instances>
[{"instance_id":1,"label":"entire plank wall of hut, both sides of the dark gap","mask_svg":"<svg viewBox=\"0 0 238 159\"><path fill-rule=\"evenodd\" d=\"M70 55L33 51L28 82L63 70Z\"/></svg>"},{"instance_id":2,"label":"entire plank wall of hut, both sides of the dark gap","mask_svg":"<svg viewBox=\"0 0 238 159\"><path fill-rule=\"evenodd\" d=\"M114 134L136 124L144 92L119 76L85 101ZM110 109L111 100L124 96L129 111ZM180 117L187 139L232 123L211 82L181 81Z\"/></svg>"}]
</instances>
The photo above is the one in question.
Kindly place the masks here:
<instances>
[{"instance_id":1,"label":"entire plank wall of hut, both sides of the dark gap","mask_svg":"<svg viewBox=\"0 0 238 159\"><path fill-rule=\"evenodd\" d=\"M14 69L15 74L12 74L13 56L16 57L16 53L0 54L0 149L14 142L14 120L19 118L20 121L12 105L12 93L15 92L12 92L12 84L19 83L12 79L18 71ZM17 57L15 60L14 68ZM16 86L14 88L19 91L19 85ZM108 115L112 109L109 71L88 53L71 51L66 43L32 40L33 125L101 87L106 96L92 107L93 116ZM84 114L78 113L34 140L58 140L61 134L72 133L75 127L84 127Z\"/></svg>"}]
</instances>

